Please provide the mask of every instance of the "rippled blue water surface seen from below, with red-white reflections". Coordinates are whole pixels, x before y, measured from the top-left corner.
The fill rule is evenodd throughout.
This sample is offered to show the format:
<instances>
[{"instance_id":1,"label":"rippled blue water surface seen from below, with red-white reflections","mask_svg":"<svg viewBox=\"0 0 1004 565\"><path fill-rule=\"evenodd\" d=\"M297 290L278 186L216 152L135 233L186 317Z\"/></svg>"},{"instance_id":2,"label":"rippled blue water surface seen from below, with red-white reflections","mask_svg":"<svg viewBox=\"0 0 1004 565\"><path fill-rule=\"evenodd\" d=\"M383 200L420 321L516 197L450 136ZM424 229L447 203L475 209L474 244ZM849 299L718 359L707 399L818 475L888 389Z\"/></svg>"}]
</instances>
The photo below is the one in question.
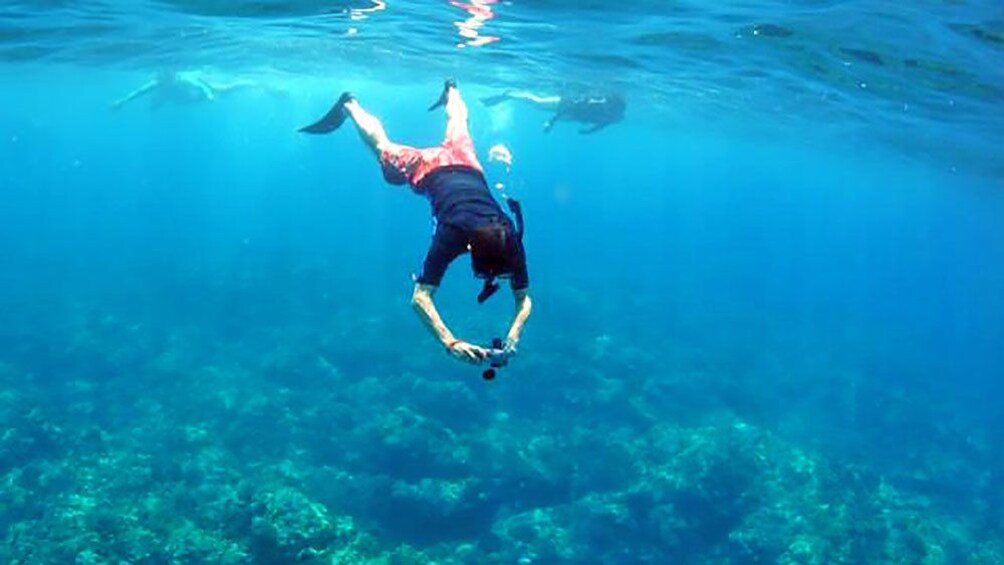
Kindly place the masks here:
<instances>
[{"instance_id":1,"label":"rippled blue water surface seen from below, with red-white reflections","mask_svg":"<svg viewBox=\"0 0 1004 565\"><path fill-rule=\"evenodd\" d=\"M935 145L956 132L1004 143L1002 54L1004 19L985 1L22 0L0 8L0 61L310 74L407 66L498 85L601 84L669 115L731 110L887 134L924 124Z\"/></svg>"}]
</instances>

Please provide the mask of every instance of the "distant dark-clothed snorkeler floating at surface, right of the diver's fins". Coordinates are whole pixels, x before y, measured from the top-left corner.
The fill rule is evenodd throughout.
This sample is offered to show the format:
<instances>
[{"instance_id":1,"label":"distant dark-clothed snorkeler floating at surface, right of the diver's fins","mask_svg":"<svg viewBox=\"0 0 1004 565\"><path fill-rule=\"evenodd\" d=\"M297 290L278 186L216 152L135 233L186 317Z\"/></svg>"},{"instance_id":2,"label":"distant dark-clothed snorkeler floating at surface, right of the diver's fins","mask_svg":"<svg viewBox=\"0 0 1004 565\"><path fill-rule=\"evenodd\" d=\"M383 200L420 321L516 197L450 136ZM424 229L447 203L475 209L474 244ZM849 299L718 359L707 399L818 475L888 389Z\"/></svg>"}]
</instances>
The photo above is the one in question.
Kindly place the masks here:
<instances>
[{"instance_id":1,"label":"distant dark-clothed snorkeler floating at surface, right of the diver's fins","mask_svg":"<svg viewBox=\"0 0 1004 565\"><path fill-rule=\"evenodd\" d=\"M628 106L620 94L548 96L525 90L506 90L501 94L482 98L481 102L486 106L494 106L508 100L527 102L553 111L550 119L544 122L544 131L550 131L557 121L578 121L590 125L580 129L579 133L593 133L620 121Z\"/></svg>"}]
</instances>

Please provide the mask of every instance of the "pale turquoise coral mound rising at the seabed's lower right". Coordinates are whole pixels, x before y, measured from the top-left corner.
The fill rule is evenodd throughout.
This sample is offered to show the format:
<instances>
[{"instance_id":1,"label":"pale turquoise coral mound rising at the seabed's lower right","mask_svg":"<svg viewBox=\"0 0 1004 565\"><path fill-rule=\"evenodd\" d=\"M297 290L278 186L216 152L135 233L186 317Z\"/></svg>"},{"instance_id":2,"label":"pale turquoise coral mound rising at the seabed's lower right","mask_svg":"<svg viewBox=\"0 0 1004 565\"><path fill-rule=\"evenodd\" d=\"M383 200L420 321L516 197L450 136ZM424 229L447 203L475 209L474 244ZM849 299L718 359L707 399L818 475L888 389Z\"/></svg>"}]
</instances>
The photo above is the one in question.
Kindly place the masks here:
<instances>
[{"instance_id":1,"label":"pale turquoise coral mound rising at the seabed's lower right","mask_svg":"<svg viewBox=\"0 0 1004 565\"><path fill-rule=\"evenodd\" d=\"M630 444L638 468L605 493L500 511L500 561L977 562L923 499L763 430L661 426ZM570 450L570 456L586 452ZM594 454L590 454L594 455ZM516 499L518 500L518 499ZM527 502L534 500L529 498ZM978 540L973 554L1000 544ZM955 557L953 557L955 556ZM932 561L933 560L933 561Z\"/></svg>"}]
</instances>

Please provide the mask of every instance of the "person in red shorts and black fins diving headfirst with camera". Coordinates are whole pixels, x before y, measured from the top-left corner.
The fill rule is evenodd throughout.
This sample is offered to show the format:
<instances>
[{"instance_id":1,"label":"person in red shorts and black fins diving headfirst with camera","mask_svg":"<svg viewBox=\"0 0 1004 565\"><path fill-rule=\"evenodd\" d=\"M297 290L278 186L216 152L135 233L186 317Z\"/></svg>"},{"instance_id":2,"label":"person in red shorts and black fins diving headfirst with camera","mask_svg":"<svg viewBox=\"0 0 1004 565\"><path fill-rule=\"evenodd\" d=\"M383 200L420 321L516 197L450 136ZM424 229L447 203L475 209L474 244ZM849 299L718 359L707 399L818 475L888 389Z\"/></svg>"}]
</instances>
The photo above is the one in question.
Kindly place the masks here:
<instances>
[{"instance_id":1,"label":"person in red shorts and black fins diving headfirst with camera","mask_svg":"<svg viewBox=\"0 0 1004 565\"><path fill-rule=\"evenodd\" d=\"M506 356L514 354L531 309L522 212L516 201L507 200L516 218L514 224L492 197L468 131L467 105L452 79L446 81L439 100L429 109L440 106L446 107L446 139L436 148L419 149L392 142L380 119L362 109L349 92L342 93L327 114L300 131L329 133L346 117L351 118L362 140L376 156L384 179L392 185L407 184L429 198L436 232L422 273L415 278L412 305L450 355L477 364L494 354L495 349L457 338L440 316L433 296L450 263L468 251L474 276L485 281L479 303L498 290L496 278L510 279L516 312L501 349Z\"/></svg>"}]
</instances>

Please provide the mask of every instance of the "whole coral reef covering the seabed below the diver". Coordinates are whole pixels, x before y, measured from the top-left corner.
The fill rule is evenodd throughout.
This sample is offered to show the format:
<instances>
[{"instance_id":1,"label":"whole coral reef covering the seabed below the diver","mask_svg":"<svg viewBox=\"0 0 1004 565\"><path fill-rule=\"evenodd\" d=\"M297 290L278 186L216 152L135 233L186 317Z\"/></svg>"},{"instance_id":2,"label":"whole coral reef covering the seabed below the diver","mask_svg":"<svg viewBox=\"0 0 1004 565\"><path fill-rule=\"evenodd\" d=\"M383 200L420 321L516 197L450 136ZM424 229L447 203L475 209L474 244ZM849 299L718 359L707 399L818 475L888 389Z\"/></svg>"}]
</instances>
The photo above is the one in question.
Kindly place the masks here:
<instances>
[{"instance_id":1,"label":"whole coral reef covering the seabed below the diver","mask_svg":"<svg viewBox=\"0 0 1004 565\"><path fill-rule=\"evenodd\" d=\"M341 362L320 320L234 342L75 311L58 362L0 362L3 562L1004 562L1000 454L934 403L903 457L851 458L787 432L741 354L604 334L486 384ZM882 397L846 409L918 430Z\"/></svg>"}]
</instances>

